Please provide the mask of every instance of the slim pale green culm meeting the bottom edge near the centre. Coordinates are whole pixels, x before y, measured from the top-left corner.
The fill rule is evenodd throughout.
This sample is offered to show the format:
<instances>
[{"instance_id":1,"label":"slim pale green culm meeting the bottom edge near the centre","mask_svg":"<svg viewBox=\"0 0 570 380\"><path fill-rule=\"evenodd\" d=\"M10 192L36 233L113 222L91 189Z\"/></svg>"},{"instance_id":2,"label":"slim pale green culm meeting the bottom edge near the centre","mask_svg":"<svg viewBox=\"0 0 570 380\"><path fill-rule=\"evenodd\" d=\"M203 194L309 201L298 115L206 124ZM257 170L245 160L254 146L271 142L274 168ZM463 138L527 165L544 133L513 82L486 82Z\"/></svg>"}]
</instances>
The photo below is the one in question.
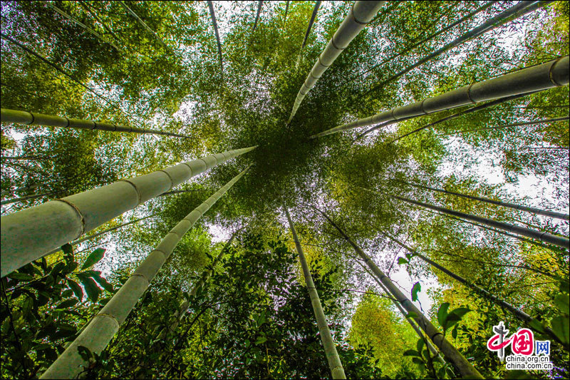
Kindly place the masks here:
<instances>
[{"instance_id":1,"label":"slim pale green culm meeting the bottom edge near the centre","mask_svg":"<svg viewBox=\"0 0 570 380\"><path fill-rule=\"evenodd\" d=\"M309 297L311 297L311 305L313 306L313 312L315 313L316 324L318 326L318 332L321 334L321 341L325 349L326 359L328 361L328 367L331 369L331 375L333 379L346 379L344 374L343 364L341 359L338 357L338 352L336 351L336 346L333 342L333 337L331 336L331 330L328 329L328 324L326 323L325 313L323 312L323 307L321 306L321 299L318 298L318 293L316 292L316 287L313 282L313 277L309 271L309 265L307 265L305 254L303 252L303 247L299 242L299 237L297 237L297 232L295 226L291 221L291 215L289 215L289 210L284 207L285 215L289 221L289 227L291 228L291 234L295 240L295 247L297 248L297 253L299 253L299 262L301 262L301 268L303 269L303 274L305 277L305 283L307 290L309 290Z\"/></svg>"}]
</instances>

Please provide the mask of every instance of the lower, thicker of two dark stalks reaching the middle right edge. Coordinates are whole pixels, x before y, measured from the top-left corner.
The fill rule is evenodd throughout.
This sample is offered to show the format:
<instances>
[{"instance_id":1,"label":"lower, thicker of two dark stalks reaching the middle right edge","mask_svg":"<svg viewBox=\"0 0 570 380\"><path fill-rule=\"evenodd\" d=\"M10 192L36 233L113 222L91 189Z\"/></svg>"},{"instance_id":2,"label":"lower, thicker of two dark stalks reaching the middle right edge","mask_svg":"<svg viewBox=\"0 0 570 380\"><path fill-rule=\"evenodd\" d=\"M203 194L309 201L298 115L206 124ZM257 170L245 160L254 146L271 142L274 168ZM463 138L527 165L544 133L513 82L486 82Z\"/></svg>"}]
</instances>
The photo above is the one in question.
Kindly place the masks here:
<instances>
[{"instance_id":1,"label":"lower, thicker of two dark stalks reaching the middle right edge","mask_svg":"<svg viewBox=\"0 0 570 380\"><path fill-rule=\"evenodd\" d=\"M558 247L563 247L566 249L570 248L570 241L568 240L567 237L552 235L552 234L549 234L548 232L540 232L537 230L531 230L530 228L527 228L527 227L520 227L518 225L512 225L512 224L506 223L506 222L498 222L497 220L492 220L492 219L489 219L487 217L480 217L477 215L467 214L465 212L454 211L454 210L447 209L445 207L440 207L440 206L435 206L435 205L430 205L428 203L420 202L418 200L411 200L411 199L408 199L405 197L398 197L398 195L390 195L390 197L393 197L393 198L398 199L398 200L403 200L404 202L408 202L408 203L411 203L413 205L418 205L421 207L429 208L431 210L443 212L446 215L454 215L456 217L461 217L461 218L466 219L466 220L472 220L473 222L481 223L482 225L488 225L489 227L495 227L495 228L499 228L501 230L505 230L508 232L513 232L513 233L518 234L518 235L531 237L532 239L537 239L537 240L540 240L541 242L546 242L546 243L549 243L552 245L557 245Z\"/></svg>"}]
</instances>

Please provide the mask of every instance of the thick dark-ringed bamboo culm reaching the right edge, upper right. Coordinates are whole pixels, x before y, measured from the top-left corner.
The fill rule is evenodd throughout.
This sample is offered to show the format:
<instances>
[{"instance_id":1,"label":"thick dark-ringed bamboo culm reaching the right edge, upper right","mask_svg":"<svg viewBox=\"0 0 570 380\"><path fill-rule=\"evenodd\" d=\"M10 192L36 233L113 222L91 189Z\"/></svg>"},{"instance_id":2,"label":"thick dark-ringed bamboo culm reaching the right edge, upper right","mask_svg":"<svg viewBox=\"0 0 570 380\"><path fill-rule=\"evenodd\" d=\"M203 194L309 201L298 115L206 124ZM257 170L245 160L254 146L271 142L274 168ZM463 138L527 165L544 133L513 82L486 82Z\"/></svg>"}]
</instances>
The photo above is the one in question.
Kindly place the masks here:
<instances>
[{"instance_id":1,"label":"thick dark-ringed bamboo culm reaching the right edge, upper right","mask_svg":"<svg viewBox=\"0 0 570 380\"><path fill-rule=\"evenodd\" d=\"M396 123L404 118L415 118L429 113L449 110L461 106L490 101L505 96L513 96L532 91L543 91L549 88L566 86L569 82L569 56L537 66L523 68L513 73L507 73L487 81L472 83L457 90L442 93L432 98L424 99L408 106L396 107L377 115L338 125L325 130L311 138L317 138L367 125Z\"/></svg>"}]
</instances>

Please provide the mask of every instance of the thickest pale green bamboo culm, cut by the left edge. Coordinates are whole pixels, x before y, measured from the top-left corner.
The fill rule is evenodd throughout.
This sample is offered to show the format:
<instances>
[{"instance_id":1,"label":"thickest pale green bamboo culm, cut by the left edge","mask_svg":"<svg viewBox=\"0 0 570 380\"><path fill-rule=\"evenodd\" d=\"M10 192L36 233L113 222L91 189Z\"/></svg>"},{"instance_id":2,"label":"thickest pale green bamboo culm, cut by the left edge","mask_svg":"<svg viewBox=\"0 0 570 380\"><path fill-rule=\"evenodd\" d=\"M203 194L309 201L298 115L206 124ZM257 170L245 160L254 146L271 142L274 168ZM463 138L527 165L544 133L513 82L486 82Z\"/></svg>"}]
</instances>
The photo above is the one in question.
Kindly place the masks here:
<instances>
[{"instance_id":1,"label":"thickest pale green bamboo culm, cut by the left edge","mask_svg":"<svg viewBox=\"0 0 570 380\"><path fill-rule=\"evenodd\" d=\"M254 148L209 155L1 217L1 277L193 176Z\"/></svg>"}]
</instances>

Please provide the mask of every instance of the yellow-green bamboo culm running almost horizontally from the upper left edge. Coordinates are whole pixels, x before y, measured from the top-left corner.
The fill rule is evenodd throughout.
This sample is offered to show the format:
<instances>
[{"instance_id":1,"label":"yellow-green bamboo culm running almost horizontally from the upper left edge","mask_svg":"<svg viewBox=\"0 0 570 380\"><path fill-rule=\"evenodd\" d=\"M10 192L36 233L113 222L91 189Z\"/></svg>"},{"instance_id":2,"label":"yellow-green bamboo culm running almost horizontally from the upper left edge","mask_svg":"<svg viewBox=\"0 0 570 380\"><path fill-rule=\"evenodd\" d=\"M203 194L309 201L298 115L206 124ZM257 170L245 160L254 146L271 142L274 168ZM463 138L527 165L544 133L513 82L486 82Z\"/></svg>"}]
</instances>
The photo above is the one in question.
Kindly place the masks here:
<instances>
[{"instance_id":1,"label":"yellow-green bamboo culm running almost horizontally from the upper left edge","mask_svg":"<svg viewBox=\"0 0 570 380\"><path fill-rule=\"evenodd\" d=\"M164 135L179 138L190 138L177 133L162 132L162 130L125 127L113 123L100 123L97 121L66 118L64 116L44 115L43 113L31 113L27 111L0 109L1 123L16 123L25 125L46 125L48 127L76 128L88 130L109 130L111 132L146 133L150 135Z\"/></svg>"}]
</instances>

